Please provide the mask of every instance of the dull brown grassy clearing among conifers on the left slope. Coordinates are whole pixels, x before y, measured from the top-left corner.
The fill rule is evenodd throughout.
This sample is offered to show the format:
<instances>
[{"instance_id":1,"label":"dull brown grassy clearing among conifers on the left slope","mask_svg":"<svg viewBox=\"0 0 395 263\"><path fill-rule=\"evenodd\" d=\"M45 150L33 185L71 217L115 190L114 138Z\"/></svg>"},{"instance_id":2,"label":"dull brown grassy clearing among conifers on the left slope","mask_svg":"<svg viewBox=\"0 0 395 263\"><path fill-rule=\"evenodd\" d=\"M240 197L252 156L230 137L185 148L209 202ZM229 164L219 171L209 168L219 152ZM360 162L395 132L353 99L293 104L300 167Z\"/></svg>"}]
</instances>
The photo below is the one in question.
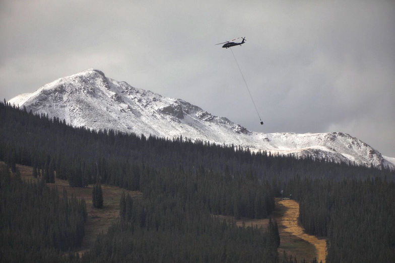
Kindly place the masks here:
<instances>
[{"instance_id":1,"label":"dull brown grassy clearing among conifers on the left slope","mask_svg":"<svg viewBox=\"0 0 395 263\"><path fill-rule=\"evenodd\" d=\"M33 168L25 165L18 165L17 168L21 172L21 177L24 180L37 181L33 178ZM88 217L85 223L85 236L82 242L82 246L79 249L80 254L87 251L96 240L96 236L100 233L107 232L109 226L111 226L119 216L119 200L122 192L133 198L142 198L143 194L138 191L128 191L122 188L102 185L103 191L103 208L97 209L92 206L92 191L93 185L88 185L86 188L70 187L69 182L65 180L55 179L54 184L47 184L51 188L56 188L60 195L63 193L63 189L66 189L69 197L72 195L77 198L84 198L87 205Z\"/></svg>"}]
</instances>

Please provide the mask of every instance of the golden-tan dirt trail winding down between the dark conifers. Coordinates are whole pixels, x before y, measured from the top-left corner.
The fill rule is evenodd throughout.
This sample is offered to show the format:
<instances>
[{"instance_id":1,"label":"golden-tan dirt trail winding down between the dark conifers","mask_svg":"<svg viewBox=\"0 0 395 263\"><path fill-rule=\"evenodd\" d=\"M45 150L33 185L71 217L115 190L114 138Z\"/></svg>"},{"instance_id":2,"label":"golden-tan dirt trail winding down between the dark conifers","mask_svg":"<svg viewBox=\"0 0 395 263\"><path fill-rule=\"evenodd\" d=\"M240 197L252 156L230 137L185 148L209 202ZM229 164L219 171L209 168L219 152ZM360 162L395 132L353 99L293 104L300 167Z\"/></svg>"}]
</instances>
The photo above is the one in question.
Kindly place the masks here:
<instances>
[{"instance_id":1,"label":"golden-tan dirt trail winding down between the dark conifers","mask_svg":"<svg viewBox=\"0 0 395 263\"><path fill-rule=\"evenodd\" d=\"M284 231L291 233L315 246L318 262L325 262L326 256L326 239L317 238L316 236L305 233L302 226L299 225L299 204L295 200L281 200L278 204L283 205L286 210L278 222L284 227Z\"/></svg>"}]
</instances>

